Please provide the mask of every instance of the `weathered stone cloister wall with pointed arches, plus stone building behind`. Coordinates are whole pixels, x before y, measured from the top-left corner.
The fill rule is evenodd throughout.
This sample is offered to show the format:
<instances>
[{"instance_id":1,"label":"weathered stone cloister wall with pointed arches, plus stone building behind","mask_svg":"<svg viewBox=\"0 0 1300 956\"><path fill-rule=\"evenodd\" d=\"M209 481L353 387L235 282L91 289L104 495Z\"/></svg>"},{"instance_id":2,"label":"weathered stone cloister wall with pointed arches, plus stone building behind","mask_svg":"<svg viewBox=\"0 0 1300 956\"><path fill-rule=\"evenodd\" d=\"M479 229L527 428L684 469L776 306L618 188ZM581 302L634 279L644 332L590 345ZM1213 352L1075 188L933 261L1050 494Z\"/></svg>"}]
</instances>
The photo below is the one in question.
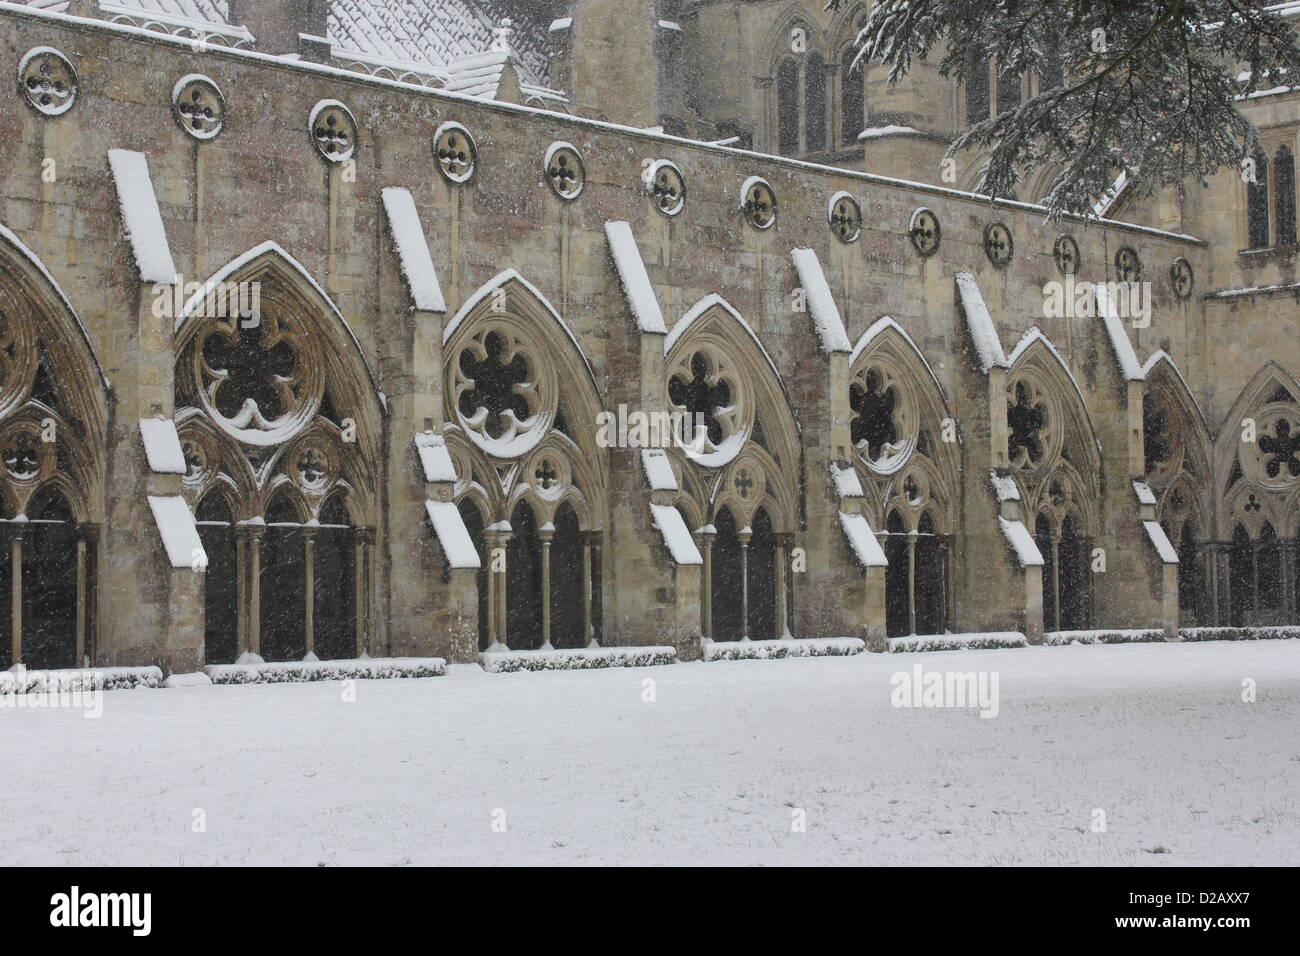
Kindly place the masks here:
<instances>
[{"instance_id":1,"label":"weathered stone cloister wall with pointed arches, plus stone building behind","mask_svg":"<svg viewBox=\"0 0 1300 956\"><path fill-rule=\"evenodd\" d=\"M566 114L504 101L525 99L510 70L511 95L474 99L0 5L4 70L46 47L75 70L65 112L25 103L31 86L10 86L0 111L10 659L38 659L31 635L64 631L73 659L187 671L244 650L469 661L521 633L689 658L702 636L786 630L880 648L930 628L1037 640L1296 620L1295 246L1238 251L1234 173L1182 207L1121 198L1131 224L1045 222L944 185L961 98L924 73L914 92L867 78L864 124L879 111L878 126L919 130L896 150L885 137L784 159L615 126L602 120L775 152L776 46L806 21L833 66L857 10L716 0L672 21L649 1L572 7L551 68L572 83ZM645 8L644 36L620 31L627 7ZM593 23L603 39L584 47ZM707 77L682 81L666 57L707 62ZM619 59L640 64L621 83ZM212 138L176 118L187 74L220 91ZM313 118L322 101L346 109ZM1294 155L1294 96L1251 108ZM341 126L321 133L324 116ZM556 143L580 160L576 196L549 168ZM147 161L182 282L259 284L260 326L202 303L159 315L160 295L185 297L151 273L148 233L126 219L152 200L110 151ZM673 173L684 202L666 215ZM433 299L385 190L412 199ZM832 221L841 193L852 203ZM861 225L844 219L853 204ZM919 209L941 225L937 250ZM630 247L608 224L627 224ZM1013 241L1004 259L993 224ZM1136 255L1126 277L1149 282L1149 324L1045 308L1045 284L1066 280L1061 234L1079 281L1114 282L1117 254ZM640 449L602 440L620 407L702 410L707 436L667 449L656 479ZM38 442L46 419L58 434ZM183 467L147 454L142 419L174 423ZM176 498L199 522L195 566L155 518ZM23 551L32 531L55 533L32 502L72 528L56 545L77 574L49 591L62 617L32 598L58 567ZM670 550L684 542L653 506L682 516L696 554ZM866 519L888 566L844 515ZM1161 557L1161 524L1182 568ZM1014 548L1018 527L1037 532L1036 555ZM458 554L458 532L482 567Z\"/></svg>"}]
</instances>

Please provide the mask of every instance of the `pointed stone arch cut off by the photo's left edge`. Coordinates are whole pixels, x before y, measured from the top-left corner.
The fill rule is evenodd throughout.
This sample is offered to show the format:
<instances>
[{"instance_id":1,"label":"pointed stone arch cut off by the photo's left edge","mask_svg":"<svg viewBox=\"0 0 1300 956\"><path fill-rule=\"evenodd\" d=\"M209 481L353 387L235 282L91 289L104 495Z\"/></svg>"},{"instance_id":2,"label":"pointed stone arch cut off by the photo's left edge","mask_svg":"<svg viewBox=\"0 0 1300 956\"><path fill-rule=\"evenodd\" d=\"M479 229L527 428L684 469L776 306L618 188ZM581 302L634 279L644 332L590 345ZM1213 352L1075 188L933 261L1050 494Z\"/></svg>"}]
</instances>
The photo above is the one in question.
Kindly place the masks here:
<instances>
[{"instance_id":1,"label":"pointed stone arch cut off by the photo's left edge","mask_svg":"<svg viewBox=\"0 0 1300 956\"><path fill-rule=\"evenodd\" d=\"M0 226L0 669L74 667L94 648L107 388L72 303Z\"/></svg>"}]
</instances>

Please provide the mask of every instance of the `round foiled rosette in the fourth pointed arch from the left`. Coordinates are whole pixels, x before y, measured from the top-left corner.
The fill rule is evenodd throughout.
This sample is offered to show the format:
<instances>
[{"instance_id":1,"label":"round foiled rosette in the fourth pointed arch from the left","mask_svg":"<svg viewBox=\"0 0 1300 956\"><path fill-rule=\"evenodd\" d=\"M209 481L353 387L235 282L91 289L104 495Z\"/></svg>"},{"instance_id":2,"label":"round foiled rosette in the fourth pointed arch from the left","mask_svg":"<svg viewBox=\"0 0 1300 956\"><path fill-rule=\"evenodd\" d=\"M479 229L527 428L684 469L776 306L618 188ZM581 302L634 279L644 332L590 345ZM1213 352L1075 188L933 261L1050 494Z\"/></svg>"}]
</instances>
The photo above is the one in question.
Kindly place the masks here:
<instances>
[{"instance_id":1,"label":"round foiled rosette in the fourth pointed arch from the left","mask_svg":"<svg viewBox=\"0 0 1300 956\"><path fill-rule=\"evenodd\" d=\"M746 377L720 343L708 338L681 350L668 368L670 411L681 416L702 414L705 428L694 429L694 418L682 418L694 434L677 442L682 453L706 468L731 462L754 431L754 397Z\"/></svg>"}]
</instances>

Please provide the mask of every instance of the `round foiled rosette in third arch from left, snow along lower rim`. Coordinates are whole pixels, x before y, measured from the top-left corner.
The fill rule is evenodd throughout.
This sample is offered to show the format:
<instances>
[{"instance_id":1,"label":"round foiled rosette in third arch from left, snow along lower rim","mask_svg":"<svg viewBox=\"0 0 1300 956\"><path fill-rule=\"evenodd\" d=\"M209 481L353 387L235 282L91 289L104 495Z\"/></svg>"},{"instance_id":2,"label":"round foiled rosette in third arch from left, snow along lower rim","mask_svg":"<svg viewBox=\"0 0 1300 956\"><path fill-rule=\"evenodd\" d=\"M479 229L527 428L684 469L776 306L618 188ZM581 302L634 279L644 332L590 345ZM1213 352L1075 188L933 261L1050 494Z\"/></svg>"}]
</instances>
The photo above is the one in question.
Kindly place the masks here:
<instances>
[{"instance_id":1,"label":"round foiled rosette in third arch from left, snow along lower rim","mask_svg":"<svg viewBox=\"0 0 1300 956\"><path fill-rule=\"evenodd\" d=\"M507 321L478 324L448 342L456 421L493 458L519 458L546 437L559 407L555 371Z\"/></svg>"}]
</instances>

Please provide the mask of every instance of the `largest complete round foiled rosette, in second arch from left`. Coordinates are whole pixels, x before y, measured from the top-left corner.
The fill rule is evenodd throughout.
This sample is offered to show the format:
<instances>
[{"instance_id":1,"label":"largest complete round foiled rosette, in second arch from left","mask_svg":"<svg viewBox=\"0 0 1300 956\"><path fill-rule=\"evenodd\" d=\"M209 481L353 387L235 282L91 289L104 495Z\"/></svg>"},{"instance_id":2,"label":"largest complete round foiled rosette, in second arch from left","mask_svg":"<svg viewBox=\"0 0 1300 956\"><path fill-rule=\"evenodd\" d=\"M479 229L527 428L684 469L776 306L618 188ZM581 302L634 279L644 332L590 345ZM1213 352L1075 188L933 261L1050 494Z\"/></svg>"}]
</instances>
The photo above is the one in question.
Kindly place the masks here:
<instances>
[{"instance_id":1,"label":"largest complete round foiled rosette, in second arch from left","mask_svg":"<svg viewBox=\"0 0 1300 956\"><path fill-rule=\"evenodd\" d=\"M203 410L244 445L278 445L316 418L325 397L325 358L317 341L268 308L261 323L211 319L196 336L192 373Z\"/></svg>"}]
</instances>

